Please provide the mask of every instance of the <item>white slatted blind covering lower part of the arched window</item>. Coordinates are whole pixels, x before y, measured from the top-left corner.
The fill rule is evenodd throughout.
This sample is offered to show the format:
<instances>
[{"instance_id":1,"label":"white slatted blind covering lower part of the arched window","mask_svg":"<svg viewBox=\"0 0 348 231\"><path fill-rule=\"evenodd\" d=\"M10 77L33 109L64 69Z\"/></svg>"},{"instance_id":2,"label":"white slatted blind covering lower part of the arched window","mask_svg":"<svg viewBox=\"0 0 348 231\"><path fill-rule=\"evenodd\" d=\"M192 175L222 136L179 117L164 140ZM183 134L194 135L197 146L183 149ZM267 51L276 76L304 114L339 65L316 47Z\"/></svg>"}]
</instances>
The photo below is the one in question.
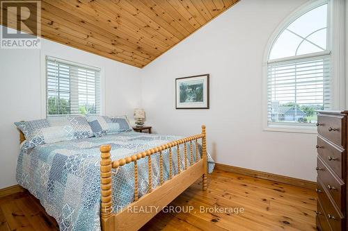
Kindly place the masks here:
<instances>
[{"instance_id":1,"label":"white slatted blind covering lower part of the arched window","mask_svg":"<svg viewBox=\"0 0 348 231\"><path fill-rule=\"evenodd\" d=\"M331 108L330 67L329 55L269 62L268 123L316 123L315 110Z\"/></svg>"}]
</instances>

